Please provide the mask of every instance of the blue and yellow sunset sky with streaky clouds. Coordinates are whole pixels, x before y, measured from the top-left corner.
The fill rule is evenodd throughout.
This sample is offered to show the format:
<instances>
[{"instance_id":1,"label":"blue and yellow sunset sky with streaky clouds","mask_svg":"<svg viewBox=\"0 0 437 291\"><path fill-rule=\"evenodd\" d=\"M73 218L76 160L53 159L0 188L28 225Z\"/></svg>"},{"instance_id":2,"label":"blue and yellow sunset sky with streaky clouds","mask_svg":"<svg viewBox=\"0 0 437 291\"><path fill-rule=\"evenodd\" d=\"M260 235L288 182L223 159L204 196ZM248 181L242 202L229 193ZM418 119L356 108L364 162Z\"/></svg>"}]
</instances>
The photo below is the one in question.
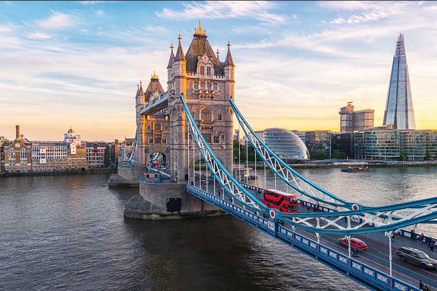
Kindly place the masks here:
<instances>
[{"instance_id":1,"label":"blue and yellow sunset sky with streaky clouds","mask_svg":"<svg viewBox=\"0 0 437 291\"><path fill-rule=\"evenodd\" d=\"M230 41L254 130L339 131L350 101L381 126L399 33L417 129L437 129L435 1L2 1L0 136L133 138L138 82L166 90L170 45L199 21L222 58Z\"/></svg>"}]
</instances>

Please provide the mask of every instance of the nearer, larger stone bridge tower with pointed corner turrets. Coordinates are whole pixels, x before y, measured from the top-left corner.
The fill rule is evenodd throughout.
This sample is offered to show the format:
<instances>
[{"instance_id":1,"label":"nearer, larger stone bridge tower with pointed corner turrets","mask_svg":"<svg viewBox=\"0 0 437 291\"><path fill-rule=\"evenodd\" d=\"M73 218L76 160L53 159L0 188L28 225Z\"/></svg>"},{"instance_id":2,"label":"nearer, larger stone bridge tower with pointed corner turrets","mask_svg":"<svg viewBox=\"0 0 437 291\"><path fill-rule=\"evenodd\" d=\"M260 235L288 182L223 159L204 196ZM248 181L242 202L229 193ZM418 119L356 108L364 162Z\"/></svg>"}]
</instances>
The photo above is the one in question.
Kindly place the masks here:
<instances>
[{"instance_id":1,"label":"nearer, larger stone bridge tower with pointed corner turrets","mask_svg":"<svg viewBox=\"0 0 437 291\"><path fill-rule=\"evenodd\" d=\"M199 157L193 157L191 151L188 161L189 129L182 110L181 95L185 98L206 142L232 173L233 111L229 98L234 97L235 66L231 56L231 45L228 42L225 62L220 62L218 50L216 57L200 22L185 56L181 35L178 39L176 54L171 46L167 66L171 179L178 183L187 182L189 169L192 171L193 163L199 160Z\"/></svg>"}]
</instances>

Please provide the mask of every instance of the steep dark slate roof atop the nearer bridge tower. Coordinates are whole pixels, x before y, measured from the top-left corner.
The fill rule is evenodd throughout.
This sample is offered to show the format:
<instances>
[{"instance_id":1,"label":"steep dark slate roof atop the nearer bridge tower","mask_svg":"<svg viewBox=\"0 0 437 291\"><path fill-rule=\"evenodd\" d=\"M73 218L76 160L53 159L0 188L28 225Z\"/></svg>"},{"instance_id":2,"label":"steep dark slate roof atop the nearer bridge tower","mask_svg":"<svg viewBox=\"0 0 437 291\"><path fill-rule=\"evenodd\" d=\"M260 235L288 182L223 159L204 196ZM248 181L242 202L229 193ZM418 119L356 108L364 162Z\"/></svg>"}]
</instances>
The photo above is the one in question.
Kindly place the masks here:
<instances>
[{"instance_id":1,"label":"steep dark slate roof atop the nearer bridge tower","mask_svg":"<svg viewBox=\"0 0 437 291\"><path fill-rule=\"evenodd\" d=\"M211 59L214 64L214 74L223 75L223 63L220 63L211 48L206 35L194 34L193 40L191 41L190 47L185 54L186 59L186 71L196 72L197 62L199 61L199 56L202 56L205 52L206 55Z\"/></svg>"}]
</instances>

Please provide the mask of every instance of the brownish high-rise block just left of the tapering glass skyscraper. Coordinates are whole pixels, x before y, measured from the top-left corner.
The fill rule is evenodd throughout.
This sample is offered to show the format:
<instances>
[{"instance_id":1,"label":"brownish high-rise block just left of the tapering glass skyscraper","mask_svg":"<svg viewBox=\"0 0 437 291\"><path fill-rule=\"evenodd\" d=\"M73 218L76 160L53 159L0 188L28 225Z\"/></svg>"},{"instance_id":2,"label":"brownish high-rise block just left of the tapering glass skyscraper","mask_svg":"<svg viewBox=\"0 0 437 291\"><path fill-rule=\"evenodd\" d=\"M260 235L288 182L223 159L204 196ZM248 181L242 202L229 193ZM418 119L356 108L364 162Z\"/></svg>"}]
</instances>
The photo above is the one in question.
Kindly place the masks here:
<instances>
[{"instance_id":1,"label":"brownish high-rise block just left of the tapering glass skyscraper","mask_svg":"<svg viewBox=\"0 0 437 291\"><path fill-rule=\"evenodd\" d=\"M374 113L372 109L353 111L353 102L340 108L340 132L353 132L354 130L369 129L374 126Z\"/></svg>"}]
</instances>

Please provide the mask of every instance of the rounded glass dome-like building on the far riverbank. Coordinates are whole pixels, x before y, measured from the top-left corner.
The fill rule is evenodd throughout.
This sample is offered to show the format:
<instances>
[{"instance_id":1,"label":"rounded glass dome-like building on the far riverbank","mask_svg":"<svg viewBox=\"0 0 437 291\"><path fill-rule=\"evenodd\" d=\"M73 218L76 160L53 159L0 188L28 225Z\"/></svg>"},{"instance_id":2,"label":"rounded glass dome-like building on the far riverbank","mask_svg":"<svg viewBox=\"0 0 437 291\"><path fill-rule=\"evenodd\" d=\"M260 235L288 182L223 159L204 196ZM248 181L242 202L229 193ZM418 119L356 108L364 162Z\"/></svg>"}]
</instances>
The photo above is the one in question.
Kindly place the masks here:
<instances>
[{"instance_id":1,"label":"rounded glass dome-like building on the far riverbank","mask_svg":"<svg viewBox=\"0 0 437 291\"><path fill-rule=\"evenodd\" d=\"M310 159L301 138L290 130L264 129L263 142L286 163L302 163Z\"/></svg>"}]
</instances>

